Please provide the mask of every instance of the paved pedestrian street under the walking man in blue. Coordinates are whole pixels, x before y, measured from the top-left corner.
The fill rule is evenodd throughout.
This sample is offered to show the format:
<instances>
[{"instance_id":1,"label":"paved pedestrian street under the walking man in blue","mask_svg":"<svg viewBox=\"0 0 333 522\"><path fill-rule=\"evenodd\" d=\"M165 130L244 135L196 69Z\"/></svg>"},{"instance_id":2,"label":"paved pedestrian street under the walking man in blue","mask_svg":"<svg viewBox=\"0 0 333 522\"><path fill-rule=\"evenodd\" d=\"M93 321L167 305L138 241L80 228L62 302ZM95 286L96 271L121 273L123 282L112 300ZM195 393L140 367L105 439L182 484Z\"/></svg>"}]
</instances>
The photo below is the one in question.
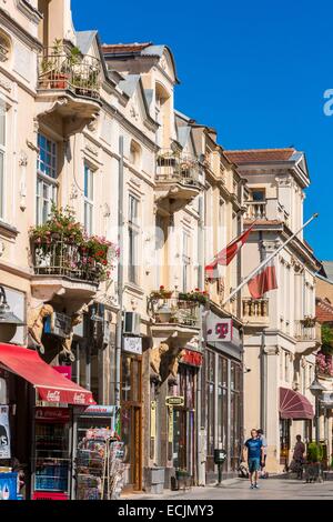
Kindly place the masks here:
<instances>
[{"instance_id":1,"label":"paved pedestrian street under the walking man in blue","mask_svg":"<svg viewBox=\"0 0 333 522\"><path fill-rule=\"evenodd\" d=\"M333 500L333 481L306 484L291 479L270 478L260 481L260 490L250 490L246 480L228 481L222 488L192 488L190 492L170 492L163 500ZM158 500L151 494L123 495L122 500Z\"/></svg>"}]
</instances>

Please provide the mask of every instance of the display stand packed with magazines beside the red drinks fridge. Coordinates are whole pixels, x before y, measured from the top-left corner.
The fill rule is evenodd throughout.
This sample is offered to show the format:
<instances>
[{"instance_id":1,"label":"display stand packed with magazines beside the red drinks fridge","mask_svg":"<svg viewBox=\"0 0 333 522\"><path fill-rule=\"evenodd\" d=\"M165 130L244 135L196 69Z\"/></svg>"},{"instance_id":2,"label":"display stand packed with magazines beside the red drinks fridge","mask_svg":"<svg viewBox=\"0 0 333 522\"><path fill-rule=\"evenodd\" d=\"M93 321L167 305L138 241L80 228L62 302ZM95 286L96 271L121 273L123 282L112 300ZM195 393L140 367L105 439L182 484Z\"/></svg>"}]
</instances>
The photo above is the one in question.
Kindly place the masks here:
<instances>
[{"instance_id":1,"label":"display stand packed with magazines beside the red drinks fridge","mask_svg":"<svg viewBox=\"0 0 333 522\"><path fill-rule=\"evenodd\" d=\"M87 430L75 460L77 500L117 500L123 488L123 442L108 429Z\"/></svg>"}]
</instances>

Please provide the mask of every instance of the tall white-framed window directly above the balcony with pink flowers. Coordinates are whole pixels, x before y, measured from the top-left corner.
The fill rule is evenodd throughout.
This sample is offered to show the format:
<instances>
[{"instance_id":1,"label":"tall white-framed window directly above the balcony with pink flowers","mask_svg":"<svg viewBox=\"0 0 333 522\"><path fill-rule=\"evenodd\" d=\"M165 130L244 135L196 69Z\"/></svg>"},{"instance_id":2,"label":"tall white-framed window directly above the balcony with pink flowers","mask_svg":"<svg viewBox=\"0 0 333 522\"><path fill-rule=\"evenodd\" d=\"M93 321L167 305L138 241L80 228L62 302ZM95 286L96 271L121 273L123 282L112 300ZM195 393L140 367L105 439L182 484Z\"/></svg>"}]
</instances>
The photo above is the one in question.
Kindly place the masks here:
<instances>
[{"instance_id":1,"label":"tall white-framed window directly above the balcony with pink flowers","mask_svg":"<svg viewBox=\"0 0 333 522\"><path fill-rule=\"evenodd\" d=\"M57 143L38 134L36 222L44 223L57 202Z\"/></svg>"}]
</instances>

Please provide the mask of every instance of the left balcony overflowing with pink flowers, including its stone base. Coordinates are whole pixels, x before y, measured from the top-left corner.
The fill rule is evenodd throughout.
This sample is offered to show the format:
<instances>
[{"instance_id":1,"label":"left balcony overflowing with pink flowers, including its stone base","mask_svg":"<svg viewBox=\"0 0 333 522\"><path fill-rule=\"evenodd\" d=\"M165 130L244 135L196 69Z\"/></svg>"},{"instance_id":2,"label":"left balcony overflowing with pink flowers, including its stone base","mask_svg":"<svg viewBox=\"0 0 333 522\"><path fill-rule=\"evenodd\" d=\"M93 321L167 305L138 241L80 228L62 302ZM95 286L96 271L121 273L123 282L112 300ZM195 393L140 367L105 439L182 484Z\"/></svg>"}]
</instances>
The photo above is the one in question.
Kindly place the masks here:
<instances>
[{"instance_id":1,"label":"left balcony overflowing with pink flowers, including its stone base","mask_svg":"<svg viewBox=\"0 0 333 522\"><path fill-rule=\"evenodd\" d=\"M101 271L78 244L61 239L31 245L33 297L50 301L56 294L90 300L97 292Z\"/></svg>"}]
</instances>

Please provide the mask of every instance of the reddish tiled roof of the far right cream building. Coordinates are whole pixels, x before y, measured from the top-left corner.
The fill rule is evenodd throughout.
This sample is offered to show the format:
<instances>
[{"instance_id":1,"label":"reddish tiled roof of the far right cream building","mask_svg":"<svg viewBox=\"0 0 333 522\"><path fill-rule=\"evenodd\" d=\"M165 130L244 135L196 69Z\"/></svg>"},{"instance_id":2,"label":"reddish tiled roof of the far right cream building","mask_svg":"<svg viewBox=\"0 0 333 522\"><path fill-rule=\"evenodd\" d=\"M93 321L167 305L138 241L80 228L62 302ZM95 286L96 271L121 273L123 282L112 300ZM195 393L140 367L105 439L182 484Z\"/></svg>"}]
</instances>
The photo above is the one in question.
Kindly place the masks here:
<instances>
[{"instance_id":1,"label":"reddish tiled roof of the far right cream building","mask_svg":"<svg viewBox=\"0 0 333 522\"><path fill-rule=\"evenodd\" d=\"M295 149L251 149L225 150L224 154L232 163L244 164L287 161L295 152Z\"/></svg>"}]
</instances>

